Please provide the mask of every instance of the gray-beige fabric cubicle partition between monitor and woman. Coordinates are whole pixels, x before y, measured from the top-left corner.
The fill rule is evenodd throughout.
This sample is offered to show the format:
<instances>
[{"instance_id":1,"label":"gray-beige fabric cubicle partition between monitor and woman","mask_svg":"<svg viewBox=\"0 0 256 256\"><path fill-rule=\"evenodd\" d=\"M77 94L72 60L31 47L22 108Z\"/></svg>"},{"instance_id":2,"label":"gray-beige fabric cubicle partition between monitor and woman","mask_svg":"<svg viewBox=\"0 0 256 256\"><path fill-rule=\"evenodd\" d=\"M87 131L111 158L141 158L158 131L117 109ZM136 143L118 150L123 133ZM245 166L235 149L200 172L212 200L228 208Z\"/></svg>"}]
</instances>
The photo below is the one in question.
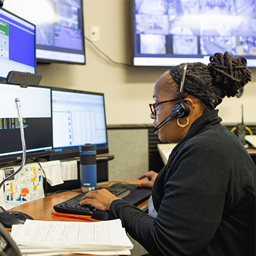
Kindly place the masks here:
<instances>
[{"instance_id":1,"label":"gray-beige fabric cubicle partition between monitor and woman","mask_svg":"<svg viewBox=\"0 0 256 256\"><path fill-rule=\"evenodd\" d=\"M147 125L108 125L109 181L137 179L148 172Z\"/></svg>"}]
</instances>

